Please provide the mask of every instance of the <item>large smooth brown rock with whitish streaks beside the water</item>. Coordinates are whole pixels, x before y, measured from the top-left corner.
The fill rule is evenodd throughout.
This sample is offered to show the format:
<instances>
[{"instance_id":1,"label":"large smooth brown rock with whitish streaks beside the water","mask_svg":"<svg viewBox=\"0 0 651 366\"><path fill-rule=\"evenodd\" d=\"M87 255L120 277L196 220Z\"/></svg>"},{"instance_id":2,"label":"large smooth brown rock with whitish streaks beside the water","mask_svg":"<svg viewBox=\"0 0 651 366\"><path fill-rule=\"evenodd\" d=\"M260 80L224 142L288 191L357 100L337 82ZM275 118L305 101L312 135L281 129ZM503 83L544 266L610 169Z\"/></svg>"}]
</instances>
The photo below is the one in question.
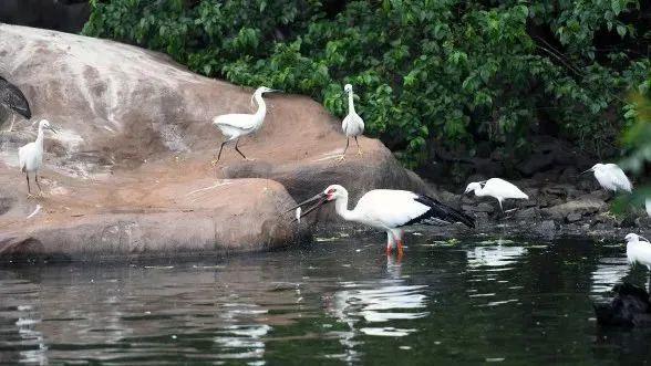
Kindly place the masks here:
<instances>
[{"instance_id":1,"label":"large smooth brown rock with whitish streaks beside the water","mask_svg":"<svg viewBox=\"0 0 651 366\"><path fill-rule=\"evenodd\" d=\"M32 121L60 128L45 138L45 197L38 202L25 199L16 156L35 127L18 122L0 136L0 242L10 257L265 250L301 234L293 215L283 213L294 203L290 195L302 199L330 184L349 188L353 202L372 188L431 194L375 139L360 138L362 156L351 142L337 163L345 145L340 121L303 96L266 97L265 124L239 144L256 161L227 146L213 167L223 140L213 117L250 112L252 91L189 73L155 52L0 24L0 65L30 100ZM37 203L42 210L25 219ZM332 219L331 210L321 218Z\"/></svg>"}]
</instances>

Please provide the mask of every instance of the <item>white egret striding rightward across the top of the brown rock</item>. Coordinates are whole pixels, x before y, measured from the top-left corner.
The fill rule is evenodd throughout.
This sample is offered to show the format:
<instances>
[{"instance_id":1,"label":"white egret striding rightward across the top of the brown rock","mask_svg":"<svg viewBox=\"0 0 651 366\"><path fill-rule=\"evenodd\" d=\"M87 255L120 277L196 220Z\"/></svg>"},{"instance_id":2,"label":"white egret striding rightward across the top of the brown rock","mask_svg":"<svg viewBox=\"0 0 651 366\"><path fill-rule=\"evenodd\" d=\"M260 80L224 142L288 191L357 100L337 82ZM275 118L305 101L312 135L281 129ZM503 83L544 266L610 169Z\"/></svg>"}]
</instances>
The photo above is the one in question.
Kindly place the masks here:
<instances>
[{"instance_id":1,"label":"white egret striding rightward across the top of the brown rock","mask_svg":"<svg viewBox=\"0 0 651 366\"><path fill-rule=\"evenodd\" d=\"M258 103L258 111L255 114L224 114L217 116L213 119L213 124L217 126L221 134L226 137L226 140L221 143L221 147L219 147L219 155L217 156L217 160L221 157L221 150L224 149L224 145L231 140L235 142L235 150L241 155L245 159L248 158L237 148L237 144L239 143L239 138L241 136L249 135L255 133L262 126L262 122L265 121L265 116L267 115L267 105L265 104L265 100L262 100L262 94L271 93L271 92L279 92L272 88L268 88L267 86L260 86L256 90L254 95L251 96L252 100L256 100ZM213 163L216 163L213 161Z\"/></svg>"}]
</instances>

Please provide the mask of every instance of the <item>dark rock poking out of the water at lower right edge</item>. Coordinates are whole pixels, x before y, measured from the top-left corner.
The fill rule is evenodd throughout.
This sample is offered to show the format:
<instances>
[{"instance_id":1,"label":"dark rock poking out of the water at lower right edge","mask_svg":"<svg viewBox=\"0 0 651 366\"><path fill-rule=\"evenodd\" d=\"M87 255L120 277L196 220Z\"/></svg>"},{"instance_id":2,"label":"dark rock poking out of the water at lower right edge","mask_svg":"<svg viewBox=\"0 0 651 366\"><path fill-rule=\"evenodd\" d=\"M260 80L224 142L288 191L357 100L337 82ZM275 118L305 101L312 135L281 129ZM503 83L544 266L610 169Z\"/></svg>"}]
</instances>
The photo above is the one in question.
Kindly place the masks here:
<instances>
[{"instance_id":1,"label":"dark rock poking out of the water at lower right edge","mask_svg":"<svg viewBox=\"0 0 651 366\"><path fill-rule=\"evenodd\" d=\"M612 287L610 303L595 304L597 323L603 326L651 326L651 302L647 290L631 283Z\"/></svg>"}]
</instances>

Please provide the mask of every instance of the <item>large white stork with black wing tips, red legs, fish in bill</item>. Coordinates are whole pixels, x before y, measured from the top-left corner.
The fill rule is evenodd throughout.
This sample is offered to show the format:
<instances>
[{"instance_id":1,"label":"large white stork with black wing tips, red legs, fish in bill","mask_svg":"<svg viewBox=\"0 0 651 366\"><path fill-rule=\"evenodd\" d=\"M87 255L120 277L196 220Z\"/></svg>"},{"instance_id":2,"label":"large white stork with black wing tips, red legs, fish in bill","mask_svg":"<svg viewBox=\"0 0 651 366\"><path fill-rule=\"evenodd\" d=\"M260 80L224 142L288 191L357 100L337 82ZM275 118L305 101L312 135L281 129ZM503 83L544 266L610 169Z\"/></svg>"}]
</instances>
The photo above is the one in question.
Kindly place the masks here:
<instances>
[{"instance_id":1,"label":"large white stork with black wing tips, red legs, fish in bill","mask_svg":"<svg viewBox=\"0 0 651 366\"><path fill-rule=\"evenodd\" d=\"M353 210L348 209L348 191L339 185L332 185L310 199L307 199L291 210L303 205L318 201L306 210L306 216L321 205L334 201L337 213L347 221L355 221L386 231L386 253L397 247L399 255L402 255L402 227L411 224L440 224L462 222L469 228L475 227L475 220L454 208L441 203L427 196L417 195L407 190L374 189L368 191Z\"/></svg>"}]
</instances>

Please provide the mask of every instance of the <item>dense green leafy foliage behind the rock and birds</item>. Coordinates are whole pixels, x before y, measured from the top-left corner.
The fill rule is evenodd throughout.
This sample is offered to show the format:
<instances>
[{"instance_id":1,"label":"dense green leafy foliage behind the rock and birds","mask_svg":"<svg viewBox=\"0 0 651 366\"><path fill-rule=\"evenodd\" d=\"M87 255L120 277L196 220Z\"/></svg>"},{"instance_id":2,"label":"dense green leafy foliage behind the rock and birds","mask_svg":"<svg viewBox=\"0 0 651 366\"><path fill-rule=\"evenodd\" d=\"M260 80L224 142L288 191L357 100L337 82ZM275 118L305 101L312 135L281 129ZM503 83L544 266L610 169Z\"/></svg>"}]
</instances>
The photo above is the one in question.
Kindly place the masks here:
<instances>
[{"instance_id":1,"label":"dense green leafy foliage behind the rock and birds","mask_svg":"<svg viewBox=\"0 0 651 366\"><path fill-rule=\"evenodd\" d=\"M164 51L237 84L307 94L338 116L342 86L353 84L368 132L410 166L438 148L473 154L479 140L513 154L549 123L598 150L626 126L622 95L650 69L634 52L597 46L598 34L648 43L626 21L640 11L633 0L91 4L87 35Z\"/></svg>"}]
</instances>

